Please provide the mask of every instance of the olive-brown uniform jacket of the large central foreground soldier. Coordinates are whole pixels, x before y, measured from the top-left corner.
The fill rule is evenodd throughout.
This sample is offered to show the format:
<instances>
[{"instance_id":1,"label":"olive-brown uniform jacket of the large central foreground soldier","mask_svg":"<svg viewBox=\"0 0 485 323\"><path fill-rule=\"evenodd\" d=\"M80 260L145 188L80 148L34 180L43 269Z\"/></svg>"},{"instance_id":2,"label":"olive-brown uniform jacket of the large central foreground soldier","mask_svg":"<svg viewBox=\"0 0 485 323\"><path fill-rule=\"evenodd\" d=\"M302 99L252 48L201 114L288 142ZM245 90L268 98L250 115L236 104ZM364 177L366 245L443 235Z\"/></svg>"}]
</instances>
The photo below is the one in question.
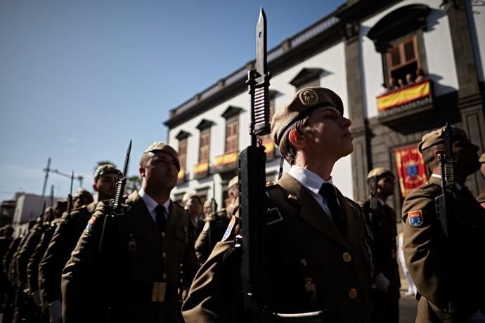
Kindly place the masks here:
<instances>
[{"instance_id":1,"label":"olive-brown uniform jacket of the large central foreground soldier","mask_svg":"<svg viewBox=\"0 0 485 323\"><path fill-rule=\"evenodd\" d=\"M283 218L266 227L271 310L323 310L323 322L370 322L370 254L365 218L358 204L338 192L347 218L347 237L342 237L292 176L283 175L267 192ZM240 253L227 255L232 242L224 240L216 244L190 286L182 307L187 323L248 322L240 310Z\"/></svg>"}]
</instances>

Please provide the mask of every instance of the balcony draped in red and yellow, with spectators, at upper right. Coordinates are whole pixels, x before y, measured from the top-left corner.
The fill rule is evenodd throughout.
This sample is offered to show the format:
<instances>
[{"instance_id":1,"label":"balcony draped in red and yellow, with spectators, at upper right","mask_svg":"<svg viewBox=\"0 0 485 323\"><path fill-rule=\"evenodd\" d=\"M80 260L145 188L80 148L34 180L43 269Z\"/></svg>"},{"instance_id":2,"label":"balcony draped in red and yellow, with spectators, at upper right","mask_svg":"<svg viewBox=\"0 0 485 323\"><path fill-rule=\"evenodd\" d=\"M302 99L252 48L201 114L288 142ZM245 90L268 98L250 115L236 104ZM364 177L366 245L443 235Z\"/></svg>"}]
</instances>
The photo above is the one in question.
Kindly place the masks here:
<instances>
[{"instance_id":1,"label":"balcony draped in red and yellow, with spectators, at upper right","mask_svg":"<svg viewBox=\"0 0 485 323\"><path fill-rule=\"evenodd\" d=\"M393 126L424 117L433 108L432 85L426 79L377 96L377 119Z\"/></svg>"}]
</instances>

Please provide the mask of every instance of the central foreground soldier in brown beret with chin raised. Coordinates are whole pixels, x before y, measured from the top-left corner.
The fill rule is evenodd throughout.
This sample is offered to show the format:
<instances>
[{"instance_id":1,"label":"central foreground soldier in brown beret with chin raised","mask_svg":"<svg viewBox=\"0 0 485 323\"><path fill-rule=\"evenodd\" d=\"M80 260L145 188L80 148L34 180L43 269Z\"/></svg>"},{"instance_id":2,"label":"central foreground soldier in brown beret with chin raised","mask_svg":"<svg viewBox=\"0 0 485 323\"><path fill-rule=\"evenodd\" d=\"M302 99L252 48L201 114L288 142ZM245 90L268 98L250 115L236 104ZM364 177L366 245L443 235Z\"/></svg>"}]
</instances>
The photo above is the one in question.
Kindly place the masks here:
<instances>
[{"instance_id":1,"label":"central foreground soldier in brown beret with chin raised","mask_svg":"<svg viewBox=\"0 0 485 323\"><path fill-rule=\"evenodd\" d=\"M370 322L366 220L330 175L335 162L354 149L351 121L343 113L336 93L311 87L273 116L271 137L291 169L266 187L280 215L266 227L267 284L272 311L322 310L322 322ZM241 310L240 253L232 252L235 222L231 219L190 286L182 307L188 323L247 322Z\"/></svg>"}]
</instances>

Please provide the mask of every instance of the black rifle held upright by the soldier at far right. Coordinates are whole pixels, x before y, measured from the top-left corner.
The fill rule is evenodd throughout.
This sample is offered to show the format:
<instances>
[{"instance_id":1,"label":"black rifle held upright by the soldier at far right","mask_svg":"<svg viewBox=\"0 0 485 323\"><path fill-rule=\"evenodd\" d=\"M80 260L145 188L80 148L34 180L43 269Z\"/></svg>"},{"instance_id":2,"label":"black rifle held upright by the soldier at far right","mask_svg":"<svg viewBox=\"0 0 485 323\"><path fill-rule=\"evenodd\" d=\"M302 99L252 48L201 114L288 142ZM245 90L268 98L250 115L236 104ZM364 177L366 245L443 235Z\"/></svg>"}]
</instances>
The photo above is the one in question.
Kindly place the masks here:
<instances>
[{"instance_id":1,"label":"black rifle held upright by the soldier at far right","mask_svg":"<svg viewBox=\"0 0 485 323\"><path fill-rule=\"evenodd\" d=\"M448 223L453 214L453 190L455 188L455 162L453 161L451 131L450 124L446 122L443 133L444 151L438 152L441 167L441 195L434 198L435 210L446 237L450 234L451 227L448 226Z\"/></svg>"}]
</instances>

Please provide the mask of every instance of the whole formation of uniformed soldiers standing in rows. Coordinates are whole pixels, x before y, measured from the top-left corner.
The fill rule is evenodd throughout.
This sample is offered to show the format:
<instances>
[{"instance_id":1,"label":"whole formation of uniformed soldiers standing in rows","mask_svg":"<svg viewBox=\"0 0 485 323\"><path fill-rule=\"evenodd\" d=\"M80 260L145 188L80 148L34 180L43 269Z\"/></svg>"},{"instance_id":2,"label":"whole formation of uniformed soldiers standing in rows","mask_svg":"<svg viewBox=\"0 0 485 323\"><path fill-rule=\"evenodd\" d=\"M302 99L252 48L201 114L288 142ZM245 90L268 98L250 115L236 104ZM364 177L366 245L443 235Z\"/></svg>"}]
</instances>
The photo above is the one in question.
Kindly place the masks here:
<instances>
[{"instance_id":1,"label":"whole formation of uniformed soldiers standing in rows","mask_svg":"<svg viewBox=\"0 0 485 323\"><path fill-rule=\"evenodd\" d=\"M395 176L368 174L358 204L332 183L332 168L354 147L351 121L328 88L298 91L271 121L271 137L291 165L266 186L268 232L264 322L399 322L396 211L387 205ZM485 154L451 128L455 187L444 230L439 155L445 128L418 147L428 183L403 202L403 251L418 289L416 322L485 322L485 192L465 181L485 176ZM180 171L173 147L155 142L141 155L141 188L113 206L119 170L94 174L96 200L79 190L16 239L0 238L3 322L249 322L240 279L238 178L228 183L229 216L215 201L170 199ZM113 216L115 210L121 213ZM270 315L267 315L267 314ZM302 313L313 313L305 320ZM300 315L295 317L295 315ZM292 316L293 315L293 316ZM308 315L310 317L310 315Z\"/></svg>"}]
</instances>

